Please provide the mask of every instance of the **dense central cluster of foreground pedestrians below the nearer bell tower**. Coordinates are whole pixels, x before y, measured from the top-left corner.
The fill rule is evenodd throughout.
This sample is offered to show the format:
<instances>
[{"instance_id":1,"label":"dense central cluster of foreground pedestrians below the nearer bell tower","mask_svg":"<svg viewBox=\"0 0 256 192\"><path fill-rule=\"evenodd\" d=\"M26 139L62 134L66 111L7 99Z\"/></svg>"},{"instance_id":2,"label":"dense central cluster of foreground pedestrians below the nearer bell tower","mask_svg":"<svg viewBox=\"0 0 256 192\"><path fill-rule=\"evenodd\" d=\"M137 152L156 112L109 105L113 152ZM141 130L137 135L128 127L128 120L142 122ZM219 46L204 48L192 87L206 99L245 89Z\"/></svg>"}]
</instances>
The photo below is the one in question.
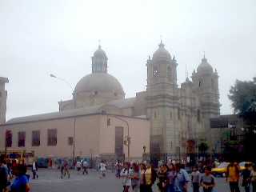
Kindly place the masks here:
<instances>
[{"instance_id":1,"label":"dense central cluster of foreground pedestrians below the nearer bell tower","mask_svg":"<svg viewBox=\"0 0 256 192\"><path fill-rule=\"evenodd\" d=\"M123 164L122 169L117 165L117 178L122 178L123 192L151 192L157 182L160 192L185 192L190 182L189 174L180 163L162 163L158 170L150 162Z\"/></svg>"}]
</instances>

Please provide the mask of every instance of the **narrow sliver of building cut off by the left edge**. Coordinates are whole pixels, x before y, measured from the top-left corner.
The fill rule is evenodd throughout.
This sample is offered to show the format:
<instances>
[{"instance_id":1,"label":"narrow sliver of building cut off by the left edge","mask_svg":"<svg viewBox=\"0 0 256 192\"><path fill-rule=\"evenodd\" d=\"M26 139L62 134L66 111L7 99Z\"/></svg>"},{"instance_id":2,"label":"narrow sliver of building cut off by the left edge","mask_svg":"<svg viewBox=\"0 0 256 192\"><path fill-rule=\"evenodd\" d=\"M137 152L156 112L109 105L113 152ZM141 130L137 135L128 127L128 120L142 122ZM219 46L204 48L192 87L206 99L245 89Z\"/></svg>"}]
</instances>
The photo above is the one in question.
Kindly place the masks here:
<instances>
[{"instance_id":1,"label":"narrow sliver of building cut off by the left edge","mask_svg":"<svg viewBox=\"0 0 256 192\"><path fill-rule=\"evenodd\" d=\"M9 82L8 78L0 77L0 124L6 122L7 91L5 86L7 82Z\"/></svg>"}]
</instances>

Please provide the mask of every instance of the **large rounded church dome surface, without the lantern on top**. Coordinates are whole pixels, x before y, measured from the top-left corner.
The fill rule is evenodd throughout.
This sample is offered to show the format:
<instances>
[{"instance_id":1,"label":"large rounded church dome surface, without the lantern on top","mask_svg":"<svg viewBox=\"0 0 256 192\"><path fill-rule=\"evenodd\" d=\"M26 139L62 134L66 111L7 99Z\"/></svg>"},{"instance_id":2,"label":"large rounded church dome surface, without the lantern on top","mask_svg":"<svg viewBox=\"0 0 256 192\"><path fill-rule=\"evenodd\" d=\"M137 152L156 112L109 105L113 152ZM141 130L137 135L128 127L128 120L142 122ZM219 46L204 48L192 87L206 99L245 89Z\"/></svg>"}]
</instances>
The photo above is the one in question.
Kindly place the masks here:
<instances>
[{"instance_id":1,"label":"large rounded church dome surface, without the lantern on top","mask_svg":"<svg viewBox=\"0 0 256 192\"><path fill-rule=\"evenodd\" d=\"M76 94L95 91L98 91L98 93L125 94L118 79L106 73L88 74L78 82L74 89Z\"/></svg>"}]
</instances>

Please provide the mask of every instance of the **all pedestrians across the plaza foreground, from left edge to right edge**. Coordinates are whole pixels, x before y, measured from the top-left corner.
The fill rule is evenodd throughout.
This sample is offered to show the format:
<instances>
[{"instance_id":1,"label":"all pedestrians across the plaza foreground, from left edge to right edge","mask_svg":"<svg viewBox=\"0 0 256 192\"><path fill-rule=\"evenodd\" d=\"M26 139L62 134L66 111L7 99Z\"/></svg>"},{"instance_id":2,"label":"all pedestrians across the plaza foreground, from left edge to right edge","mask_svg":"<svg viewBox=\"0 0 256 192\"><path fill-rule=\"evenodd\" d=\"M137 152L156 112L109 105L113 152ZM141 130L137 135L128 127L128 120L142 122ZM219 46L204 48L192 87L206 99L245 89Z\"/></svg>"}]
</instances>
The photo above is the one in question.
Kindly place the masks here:
<instances>
[{"instance_id":1,"label":"all pedestrians across the plaza foreground, from left edge to right edge","mask_svg":"<svg viewBox=\"0 0 256 192\"><path fill-rule=\"evenodd\" d=\"M78 174L88 174L88 162L86 160L75 163ZM61 178L70 178L69 163L63 161L60 165ZM188 192L190 186L193 192L213 192L216 179L211 174L212 166L206 163L198 163L188 174L184 164L173 162L159 162L158 167L150 162L116 162L114 165L115 176L122 180L123 192L152 192L154 187L159 192ZM99 178L106 178L107 163L101 161L97 164ZM30 191L30 175L26 174L27 166L22 162L7 161L0 158L0 192L28 192ZM31 166L31 178L38 178L38 165L33 162ZM256 192L256 166L245 164L245 168L237 162L230 162L226 167L226 182L230 186L230 192ZM240 184L241 183L241 184ZM243 188L243 190L240 190ZM200 190L202 189L202 190Z\"/></svg>"}]
</instances>

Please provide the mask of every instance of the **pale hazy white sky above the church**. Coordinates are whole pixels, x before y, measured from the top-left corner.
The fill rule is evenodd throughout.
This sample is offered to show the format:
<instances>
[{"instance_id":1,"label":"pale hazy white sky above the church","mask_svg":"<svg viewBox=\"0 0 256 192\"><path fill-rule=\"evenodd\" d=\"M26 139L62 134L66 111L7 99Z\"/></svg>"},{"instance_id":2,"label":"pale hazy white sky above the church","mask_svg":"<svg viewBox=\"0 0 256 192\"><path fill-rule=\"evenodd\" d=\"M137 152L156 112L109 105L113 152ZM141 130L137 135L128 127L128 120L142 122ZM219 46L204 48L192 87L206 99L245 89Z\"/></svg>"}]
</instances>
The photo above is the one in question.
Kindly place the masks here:
<instances>
[{"instance_id":1,"label":"pale hazy white sky above the church","mask_svg":"<svg viewBox=\"0 0 256 192\"><path fill-rule=\"evenodd\" d=\"M219 74L221 113L235 79L256 76L255 0L0 0L0 76L7 84L7 119L58 110L91 72L101 39L109 73L126 97L146 89L146 59L162 35L178 61L178 83L203 51Z\"/></svg>"}]
</instances>

